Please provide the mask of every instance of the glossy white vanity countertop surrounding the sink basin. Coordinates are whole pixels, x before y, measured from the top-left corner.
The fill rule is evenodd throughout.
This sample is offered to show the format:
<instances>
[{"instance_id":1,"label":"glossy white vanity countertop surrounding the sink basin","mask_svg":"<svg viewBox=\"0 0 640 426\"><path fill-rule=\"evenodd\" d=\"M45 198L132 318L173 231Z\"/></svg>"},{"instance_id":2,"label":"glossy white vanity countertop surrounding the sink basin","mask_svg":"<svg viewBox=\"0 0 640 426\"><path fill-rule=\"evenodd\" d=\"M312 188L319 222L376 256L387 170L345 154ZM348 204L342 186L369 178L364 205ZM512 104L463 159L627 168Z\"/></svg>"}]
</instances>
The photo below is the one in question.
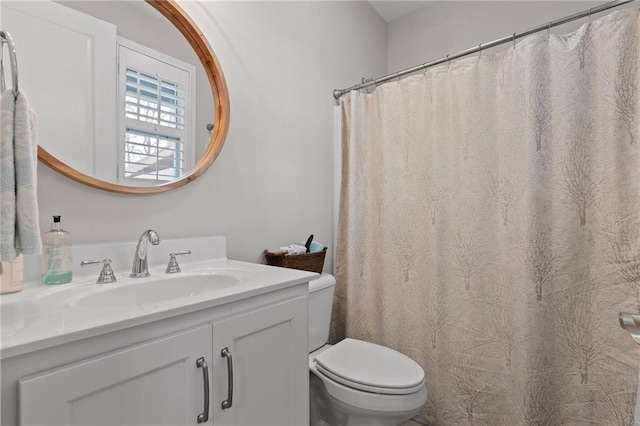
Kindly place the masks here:
<instances>
[{"instance_id":1,"label":"glossy white vanity countertop surrounding the sink basin","mask_svg":"<svg viewBox=\"0 0 640 426\"><path fill-rule=\"evenodd\" d=\"M275 268L229 260L224 257L196 262L181 260L182 272L177 274L166 274L165 265L158 265L149 268L151 276L146 278L129 278L126 274L116 271L117 282L96 284L95 279L99 269L92 269L94 274L90 278L85 276L77 282L74 280L72 283L56 286L29 283L19 293L2 295L0 297L0 358L9 358L219 306L298 285L318 277L318 274L312 272ZM221 285L203 294L196 293L177 299L156 300L152 303L124 303L120 306L103 307L75 304L75 301L83 296L109 291L115 287L137 286L150 281L173 280L177 277L188 279L195 275L224 275L232 277L233 284ZM179 285L179 282L176 285ZM95 299L99 300L99 297L96 295Z\"/></svg>"}]
</instances>

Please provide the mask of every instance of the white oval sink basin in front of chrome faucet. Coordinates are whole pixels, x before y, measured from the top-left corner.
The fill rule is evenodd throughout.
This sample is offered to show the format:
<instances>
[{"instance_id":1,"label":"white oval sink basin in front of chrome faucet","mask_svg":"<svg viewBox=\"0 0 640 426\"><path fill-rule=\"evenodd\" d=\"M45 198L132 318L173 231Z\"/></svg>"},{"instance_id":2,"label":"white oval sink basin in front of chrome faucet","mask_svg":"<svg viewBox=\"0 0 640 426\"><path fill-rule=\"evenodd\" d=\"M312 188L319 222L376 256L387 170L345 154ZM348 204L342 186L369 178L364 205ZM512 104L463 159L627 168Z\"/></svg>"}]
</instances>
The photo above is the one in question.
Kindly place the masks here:
<instances>
[{"instance_id":1,"label":"white oval sink basin in front of chrome faucet","mask_svg":"<svg viewBox=\"0 0 640 426\"><path fill-rule=\"evenodd\" d=\"M104 285L83 285L56 289L34 298L36 304L76 306L79 308L117 308L131 305L154 305L171 300L198 297L227 289L240 279L218 273L176 275L147 280L127 279Z\"/></svg>"}]
</instances>

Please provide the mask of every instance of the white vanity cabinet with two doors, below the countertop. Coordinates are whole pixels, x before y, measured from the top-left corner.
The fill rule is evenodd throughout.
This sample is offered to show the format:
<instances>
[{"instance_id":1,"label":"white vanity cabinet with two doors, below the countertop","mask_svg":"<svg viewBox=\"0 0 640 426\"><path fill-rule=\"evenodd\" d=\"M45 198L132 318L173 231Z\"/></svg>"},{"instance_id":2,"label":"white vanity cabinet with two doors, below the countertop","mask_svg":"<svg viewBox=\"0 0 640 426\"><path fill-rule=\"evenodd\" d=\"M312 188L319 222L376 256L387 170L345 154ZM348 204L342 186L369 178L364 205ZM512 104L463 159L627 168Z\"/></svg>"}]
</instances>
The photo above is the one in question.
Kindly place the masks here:
<instances>
[{"instance_id":1,"label":"white vanity cabinet with two doors, below the countertop","mask_svg":"<svg viewBox=\"0 0 640 426\"><path fill-rule=\"evenodd\" d=\"M301 283L3 359L2 425L197 425L199 358L204 424L305 425L307 352Z\"/></svg>"}]
</instances>

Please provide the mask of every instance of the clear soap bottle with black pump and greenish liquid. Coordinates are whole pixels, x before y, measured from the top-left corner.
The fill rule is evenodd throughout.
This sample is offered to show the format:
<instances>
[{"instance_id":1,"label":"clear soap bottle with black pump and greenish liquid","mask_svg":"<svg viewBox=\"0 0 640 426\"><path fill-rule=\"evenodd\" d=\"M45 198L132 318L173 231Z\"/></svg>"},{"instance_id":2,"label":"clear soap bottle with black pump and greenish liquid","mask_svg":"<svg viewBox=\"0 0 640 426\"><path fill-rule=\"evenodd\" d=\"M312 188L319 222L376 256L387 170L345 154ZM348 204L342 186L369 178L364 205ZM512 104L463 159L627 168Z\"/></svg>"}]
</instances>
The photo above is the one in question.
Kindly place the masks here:
<instances>
[{"instance_id":1,"label":"clear soap bottle with black pump and greenish liquid","mask_svg":"<svg viewBox=\"0 0 640 426\"><path fill-rule=\"evenodd\" d=\"M73 278L71 233L53 216L51 231L42 234L42 284L66 284Z\"/></svg>"}]
</instances>

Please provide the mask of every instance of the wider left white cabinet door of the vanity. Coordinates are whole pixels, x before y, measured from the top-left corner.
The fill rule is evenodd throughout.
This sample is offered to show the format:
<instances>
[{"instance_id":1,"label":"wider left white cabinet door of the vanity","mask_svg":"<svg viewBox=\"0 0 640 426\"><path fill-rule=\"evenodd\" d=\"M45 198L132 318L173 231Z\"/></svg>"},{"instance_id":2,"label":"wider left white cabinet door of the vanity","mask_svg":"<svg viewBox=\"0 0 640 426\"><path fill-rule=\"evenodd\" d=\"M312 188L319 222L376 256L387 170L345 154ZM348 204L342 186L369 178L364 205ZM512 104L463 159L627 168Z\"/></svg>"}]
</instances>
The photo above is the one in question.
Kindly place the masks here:
<instances>
[{"instance_id":1,"label":"wider left white cabinet door of the vanity","mask_svg":"<svg viewBox=\"0 0 640 426\"><path fill-rule=\"evenodd\" d=\"M206 325L22 379L20 424L196 425L211 345Z\"/></svg>"}]
</instances>

